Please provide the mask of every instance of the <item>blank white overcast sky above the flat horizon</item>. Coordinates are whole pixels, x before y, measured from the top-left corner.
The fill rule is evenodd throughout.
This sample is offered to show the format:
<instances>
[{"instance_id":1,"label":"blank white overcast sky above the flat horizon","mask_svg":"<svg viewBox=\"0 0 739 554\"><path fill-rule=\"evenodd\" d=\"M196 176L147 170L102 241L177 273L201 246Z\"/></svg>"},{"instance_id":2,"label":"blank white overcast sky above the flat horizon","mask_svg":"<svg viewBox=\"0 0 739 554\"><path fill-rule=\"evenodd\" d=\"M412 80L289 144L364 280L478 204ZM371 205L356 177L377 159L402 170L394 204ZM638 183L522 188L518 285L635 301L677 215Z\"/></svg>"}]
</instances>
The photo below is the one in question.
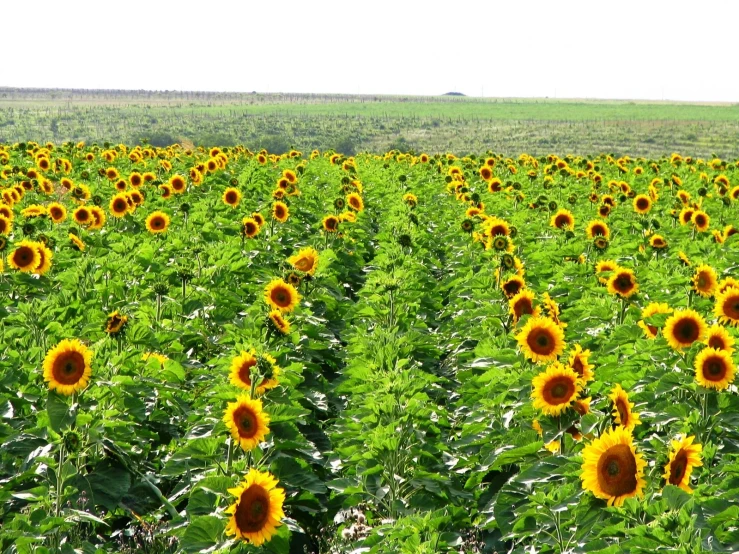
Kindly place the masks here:
<instances>
[{"instance_id":1,"label":"blank white overcast sky above the flat horizon","mask_svg":"<svg viewBox=\"0 0 739 554\"><path fill-rule=\"evenodd\" d=\"M739 1L0 2L0 87L739 102Z\"/></svg>"}]
</instances>

